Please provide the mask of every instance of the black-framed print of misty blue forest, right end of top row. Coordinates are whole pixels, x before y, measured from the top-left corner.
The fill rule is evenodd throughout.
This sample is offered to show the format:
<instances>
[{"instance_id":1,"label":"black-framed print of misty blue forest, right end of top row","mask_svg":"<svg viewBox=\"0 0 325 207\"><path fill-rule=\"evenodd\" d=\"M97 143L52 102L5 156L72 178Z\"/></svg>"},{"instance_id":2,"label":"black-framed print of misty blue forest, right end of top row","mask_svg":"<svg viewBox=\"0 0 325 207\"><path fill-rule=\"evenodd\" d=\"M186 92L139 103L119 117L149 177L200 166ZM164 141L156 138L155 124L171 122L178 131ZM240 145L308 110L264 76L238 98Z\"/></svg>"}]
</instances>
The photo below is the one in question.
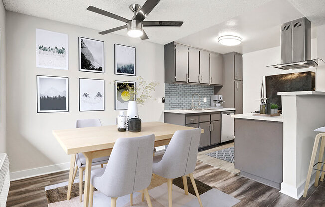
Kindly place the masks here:
<instances>
[{"instance_id":1,"label":"black-framed print of misty blue forest, right end of top row","mask_svg":"<svg viewBox=\"0 0 325 207\"><path fill-rule=\"evenodd\" d=\"M117 75L136 75L136 48L125 45L114 45L115 72Z\"/></svg>"}]
</instances>

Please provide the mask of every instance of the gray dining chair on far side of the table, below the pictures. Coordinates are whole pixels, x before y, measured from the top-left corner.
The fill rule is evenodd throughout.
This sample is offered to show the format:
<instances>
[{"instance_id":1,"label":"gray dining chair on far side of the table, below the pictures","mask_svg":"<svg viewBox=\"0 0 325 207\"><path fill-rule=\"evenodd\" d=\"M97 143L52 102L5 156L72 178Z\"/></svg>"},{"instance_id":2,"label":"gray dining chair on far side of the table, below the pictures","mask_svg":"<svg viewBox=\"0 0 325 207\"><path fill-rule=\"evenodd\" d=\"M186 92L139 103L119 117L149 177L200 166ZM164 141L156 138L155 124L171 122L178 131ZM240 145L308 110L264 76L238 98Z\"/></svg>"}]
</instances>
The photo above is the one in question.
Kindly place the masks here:
<instances>
[{"instance_id":1,"label":"gray dining chair on far side of the table, below the pictures","mask_svg":"<svg viewBox=\"0 0 325 207\"><path fill-rule=\"evenodd\" d=\"M76 128L96 127L96 126L102 126L102 123L100 122L99 119L84 119L84 120L77 120L76 122ZM103 167L103 164L107 163L108 159L109 156L95 158L92 161L92 165L101 165L101 167ZM79 201L82 202L82 177L83 177L83 171L86 168L86 158L82 153L76 154L76 163L73 172L72 183L71 185L69 185L70 188L72 188L72 184L76 177L78 168L79 168ZM71 189L69 190L71 192Z\"/></svg>"}]
</instances>

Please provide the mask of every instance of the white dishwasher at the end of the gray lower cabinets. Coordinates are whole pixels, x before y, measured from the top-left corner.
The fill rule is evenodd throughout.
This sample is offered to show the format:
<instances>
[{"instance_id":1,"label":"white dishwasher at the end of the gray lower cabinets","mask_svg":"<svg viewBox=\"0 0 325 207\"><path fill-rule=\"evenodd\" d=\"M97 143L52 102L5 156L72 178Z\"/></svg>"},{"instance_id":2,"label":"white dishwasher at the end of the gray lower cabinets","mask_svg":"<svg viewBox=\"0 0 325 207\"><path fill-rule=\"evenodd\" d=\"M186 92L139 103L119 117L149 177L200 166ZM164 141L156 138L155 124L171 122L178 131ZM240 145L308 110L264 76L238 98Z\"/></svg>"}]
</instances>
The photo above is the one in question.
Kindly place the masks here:
<instances>
[{"instance_id":1,"label":"white dishwasher at the end of the gray lower cabinets","mask_svg":"<svg viewBox=\"0 0 325 207\"><path fill-rule=\"evenodd\" d=\"M221 143L235 138L235 119L231 117L234 114L235 111L221 112Z\"/></svg>"}]
</instances>

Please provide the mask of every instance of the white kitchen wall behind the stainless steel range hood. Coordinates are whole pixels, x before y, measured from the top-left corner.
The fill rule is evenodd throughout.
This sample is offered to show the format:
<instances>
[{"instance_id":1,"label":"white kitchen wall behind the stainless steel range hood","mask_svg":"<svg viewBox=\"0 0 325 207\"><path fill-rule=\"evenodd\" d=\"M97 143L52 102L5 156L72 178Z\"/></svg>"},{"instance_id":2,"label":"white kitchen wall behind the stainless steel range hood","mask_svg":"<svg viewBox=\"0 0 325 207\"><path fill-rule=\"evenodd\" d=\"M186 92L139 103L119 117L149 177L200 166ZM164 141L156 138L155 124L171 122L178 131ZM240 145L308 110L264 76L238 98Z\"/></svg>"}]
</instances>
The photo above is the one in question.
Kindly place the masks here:
<instances>
[{"instance_id":1,"label":"white kitchen wall behind the stainless steel range hood","mask_svg":"<svg viewBox=\"0 0 325 207\"><path fill-rule=\"evenodd\" d=\"M316 39L312 39L311 55L312 58L316 58ZM309 69L286 71L266 67L280 64L280 61L280 46L243 54L243 113L259 110L263 76L310 71ZM325 86L324 82L321 83L316 80L316 90L322 88L323 85Z\"/></svg>"}]
</instances>

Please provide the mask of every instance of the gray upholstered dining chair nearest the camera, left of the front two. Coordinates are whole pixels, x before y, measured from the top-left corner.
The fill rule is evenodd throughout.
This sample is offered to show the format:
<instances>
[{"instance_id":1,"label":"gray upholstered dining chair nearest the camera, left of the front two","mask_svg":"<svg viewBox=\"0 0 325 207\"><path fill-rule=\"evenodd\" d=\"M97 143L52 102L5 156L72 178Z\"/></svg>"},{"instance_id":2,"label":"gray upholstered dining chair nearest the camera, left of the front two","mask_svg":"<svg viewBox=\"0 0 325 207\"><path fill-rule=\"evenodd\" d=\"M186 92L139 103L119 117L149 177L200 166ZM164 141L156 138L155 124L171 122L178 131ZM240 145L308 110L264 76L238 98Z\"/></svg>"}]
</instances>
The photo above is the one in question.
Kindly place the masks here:
<instances>
[{"instance_id":1,"label":"gray upholstered dining chair nearest the camera, left of the front two","mask_svg":"<svg viewBox=\"0 0 325 207\"><path fill-rule=\"evenodd\" d=\"M118 197L141 191L152 207L148 194L151 182L155 135L119 138L112 149L106 168L91 171L89 206L93 205L94 187L111 197L111 207L116 207Z\"/></svg>"}]
</instances>

